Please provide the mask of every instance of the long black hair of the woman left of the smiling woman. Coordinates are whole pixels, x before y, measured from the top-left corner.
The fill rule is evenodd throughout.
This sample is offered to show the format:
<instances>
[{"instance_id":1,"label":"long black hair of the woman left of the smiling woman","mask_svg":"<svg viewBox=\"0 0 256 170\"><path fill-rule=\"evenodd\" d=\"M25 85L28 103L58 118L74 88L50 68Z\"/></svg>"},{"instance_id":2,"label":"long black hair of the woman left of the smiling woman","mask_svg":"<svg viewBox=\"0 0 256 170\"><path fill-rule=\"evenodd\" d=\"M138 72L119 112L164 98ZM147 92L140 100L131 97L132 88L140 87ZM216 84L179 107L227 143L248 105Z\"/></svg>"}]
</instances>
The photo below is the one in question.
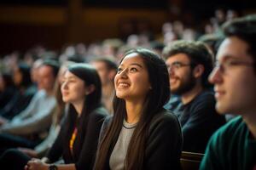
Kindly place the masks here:
<instances>
[{"instance_id":1,"label":"long black hair of the woman left of the smiling woman","mask_svg":"<svg viewBox=\"0 0 256 170\"><path fill-rule=\"evenodd\" d=\"M77 111L75 111L73 105L69 105L68 109L68 115L66 120L67 125L65 125L67 126L67 138L71 138L74 127L77 127L78 131L82 133L78 133L78 139L76 139L75 142L78 143L76 144L77 147L81 148L85 136L85 127L87 127L88 124L88 117L90 116L90 113L92 111L94 111L97 107L101 105L102 84L96 69L88 64L73 64L68 66L67 71L70 71L75 76L82 79L85 86L93 85L95 87L93 92L87 94L86 97L84 96L84 108L80 117L78 117L78 113ZM67 143L68 142L69 141L67 141ZM79 158L80 150L77 151L77 153L74 152L74 159Z\"/></svg>"}]
</instances>

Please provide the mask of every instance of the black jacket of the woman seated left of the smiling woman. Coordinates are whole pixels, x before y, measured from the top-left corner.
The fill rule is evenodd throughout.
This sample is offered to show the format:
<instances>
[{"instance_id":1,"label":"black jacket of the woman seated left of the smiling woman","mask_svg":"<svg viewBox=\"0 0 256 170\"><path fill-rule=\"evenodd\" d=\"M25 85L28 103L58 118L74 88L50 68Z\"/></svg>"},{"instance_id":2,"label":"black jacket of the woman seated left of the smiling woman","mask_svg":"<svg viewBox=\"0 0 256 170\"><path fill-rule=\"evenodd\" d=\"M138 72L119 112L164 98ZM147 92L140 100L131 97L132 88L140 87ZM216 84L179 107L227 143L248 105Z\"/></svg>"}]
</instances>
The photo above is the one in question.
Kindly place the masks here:
<instances>
[{"instance_id":1,"label":"black jacket of the woman seated left of the smiling woman","mask_svg":"<svg viewBox=\"0 0 256 170\"><path fill-rule=\"evenodd\" d=\"M76 114L67 116L55 143L49 150L47 156L49 161L57 161L62 156L66 164L74 163L77 170L92 169L102 122L106 116L108 116L108 111L102 107L92 111L86 117L85 123L79 120ZM74 127L78 127L78 134L73 144L72 154L69 141Z\"/></svg>"}]
</instances>

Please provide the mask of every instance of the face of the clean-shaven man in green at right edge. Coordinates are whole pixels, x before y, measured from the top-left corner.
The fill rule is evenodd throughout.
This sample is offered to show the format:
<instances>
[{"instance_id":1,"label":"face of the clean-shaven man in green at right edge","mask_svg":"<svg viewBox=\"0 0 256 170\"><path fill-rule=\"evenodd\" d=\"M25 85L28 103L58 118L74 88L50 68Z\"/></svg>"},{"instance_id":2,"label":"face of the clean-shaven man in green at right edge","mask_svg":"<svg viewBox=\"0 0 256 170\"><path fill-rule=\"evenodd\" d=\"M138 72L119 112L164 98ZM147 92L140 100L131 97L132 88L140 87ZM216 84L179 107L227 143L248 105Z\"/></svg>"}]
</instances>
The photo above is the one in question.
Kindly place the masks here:
<instances>
[{"instance_id":1,"label":"face of the clean-shaven man in green at right edge","mask_svg":"<svg viewBox=\"0 0 256 170\"><path fill-rule=\"evenodd\" d=\"M218 49L218 65L209 81L214 84L219 113L256 111L256 75L247 48L247 43L238 37L228 37Z\"/></svg>"}]
</instances>

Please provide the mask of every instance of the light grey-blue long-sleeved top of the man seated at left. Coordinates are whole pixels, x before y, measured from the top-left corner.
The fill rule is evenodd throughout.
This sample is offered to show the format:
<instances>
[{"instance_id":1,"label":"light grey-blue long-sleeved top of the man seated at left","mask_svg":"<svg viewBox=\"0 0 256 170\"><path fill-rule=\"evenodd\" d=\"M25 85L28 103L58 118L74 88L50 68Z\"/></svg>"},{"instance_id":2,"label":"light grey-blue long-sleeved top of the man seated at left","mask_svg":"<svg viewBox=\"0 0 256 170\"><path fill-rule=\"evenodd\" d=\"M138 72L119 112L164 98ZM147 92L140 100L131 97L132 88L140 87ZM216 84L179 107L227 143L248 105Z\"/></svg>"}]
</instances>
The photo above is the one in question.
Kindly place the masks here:
<instances>
[{"instance_id":1,"label":"light grey-blue long-sleeved top of the man seated at left","mask_svg":"<svg viewBox=\"0 0 256 170\"><path fill-rule=\"evenodd\" d=\"M44 132L50 127L55 105L55 96L49 96L44 89L39 90L26 109L15 116L12 121L4 124L0 131L15 135Z\"/></svg>"}]
</instances>

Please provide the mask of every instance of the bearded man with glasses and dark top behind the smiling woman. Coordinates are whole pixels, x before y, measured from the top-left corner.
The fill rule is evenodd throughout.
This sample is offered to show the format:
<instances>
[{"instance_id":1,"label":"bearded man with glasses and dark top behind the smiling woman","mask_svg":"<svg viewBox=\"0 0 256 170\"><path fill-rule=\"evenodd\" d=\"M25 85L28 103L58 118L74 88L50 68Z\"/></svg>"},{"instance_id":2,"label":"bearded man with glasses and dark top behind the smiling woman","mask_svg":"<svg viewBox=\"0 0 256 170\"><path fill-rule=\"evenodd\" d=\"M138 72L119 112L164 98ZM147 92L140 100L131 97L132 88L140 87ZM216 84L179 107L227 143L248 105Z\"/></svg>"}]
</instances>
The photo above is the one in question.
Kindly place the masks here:
<instances>
[{"instance_id":1,"label":"bearded man with glasses and dark top behind the smiling woman","mask_svg":"<svg viewBox=\"0 0 256 170\"><path fill-rule=\"evenodd\" d=\"M208 139L225 123L215 110L212 86L212 54L202 42L177 41L163 50L169 70L171 93L178 105L166 108L177 115L183 131L183 150L204 153Z\"/></svg>"}]
</instances>

